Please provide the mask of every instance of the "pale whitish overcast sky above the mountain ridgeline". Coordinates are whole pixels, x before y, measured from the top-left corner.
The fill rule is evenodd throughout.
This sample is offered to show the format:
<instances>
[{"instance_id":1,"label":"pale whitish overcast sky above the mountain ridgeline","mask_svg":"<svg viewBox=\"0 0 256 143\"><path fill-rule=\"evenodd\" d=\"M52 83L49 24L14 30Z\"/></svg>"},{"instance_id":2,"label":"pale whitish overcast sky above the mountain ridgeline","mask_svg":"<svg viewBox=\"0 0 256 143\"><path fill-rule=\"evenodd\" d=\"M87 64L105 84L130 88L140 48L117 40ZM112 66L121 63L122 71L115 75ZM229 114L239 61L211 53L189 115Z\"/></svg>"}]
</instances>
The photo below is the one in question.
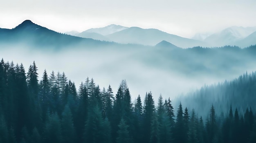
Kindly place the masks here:
<instances>
[{"instance_id":1,"label":"pale whitish overcast sky above the mountain ridgeline","mask_svg":"<svg viewBox=\"0 0 256 143\"><path fill-rule=\"evenodd\" d=\"M229 26L256 26L256 0L2 0L0 28L22 21L58 32L119 24L192 37Z\"/></svg>"}]
</instances>

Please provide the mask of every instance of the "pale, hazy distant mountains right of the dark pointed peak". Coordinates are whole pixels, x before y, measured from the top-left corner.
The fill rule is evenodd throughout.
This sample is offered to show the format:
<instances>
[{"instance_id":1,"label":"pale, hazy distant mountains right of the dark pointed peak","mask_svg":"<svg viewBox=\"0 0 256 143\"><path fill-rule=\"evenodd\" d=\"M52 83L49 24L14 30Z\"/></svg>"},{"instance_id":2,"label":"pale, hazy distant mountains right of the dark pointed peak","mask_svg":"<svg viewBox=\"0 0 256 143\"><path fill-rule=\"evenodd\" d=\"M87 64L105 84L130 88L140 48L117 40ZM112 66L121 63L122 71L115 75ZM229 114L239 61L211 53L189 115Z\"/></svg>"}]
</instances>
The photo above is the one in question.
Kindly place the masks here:
<instances>
[{"instance_id":1,"label":"pale, hazy distant mountains right of the dark pointed peak","mask_svg":"<svg viewBox=\"0 0 256 143\"><path fill-rule=\"evenodd\" d=\"M124 27L115 24L97 29L88 29L81 33L71 31L66 34L101 41L117 42L121 44L129 43L149 46L154 46L165 40L181 48L189 48L193 46L217 47L225 45L236 45L244 48L256 44L256 26L231 26L212 34L197 33L191 39L169 34L158 29Z\"/></svg>"}]
</instances>

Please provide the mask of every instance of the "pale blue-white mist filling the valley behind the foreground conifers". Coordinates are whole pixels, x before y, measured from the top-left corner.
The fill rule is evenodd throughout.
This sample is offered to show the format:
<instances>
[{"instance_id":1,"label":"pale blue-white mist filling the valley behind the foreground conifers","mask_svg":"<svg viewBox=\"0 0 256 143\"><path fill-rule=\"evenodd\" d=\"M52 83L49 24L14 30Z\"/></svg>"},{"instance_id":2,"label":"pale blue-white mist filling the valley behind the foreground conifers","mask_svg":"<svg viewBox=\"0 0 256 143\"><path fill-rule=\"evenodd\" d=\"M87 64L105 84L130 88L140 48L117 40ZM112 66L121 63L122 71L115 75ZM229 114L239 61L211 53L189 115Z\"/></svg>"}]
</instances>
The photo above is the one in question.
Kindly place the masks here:
<instances>
[{"instance_id":1,"label":"pale blue-white mist filling the valley behind the foreground conifers","mask_svg":"<svg viewBox=\"0 0 256 143\"><path fill-rule=\"evenodd\" d=\"M243 57L243 61L240 61L242 55L238 53L232 53L229 61L227 53L227 58L224 58L218 57L218 53L206 55L192 50L172 51L152 46L135 48L126 45L112 48L74 46L52 51L31 46L4 46L0 57L5 62L22 62L26 71L35 61L39 80L43 77L44 69L48 75L52 70L55 74L65 72L67 78L74 81L76 88L89 77L101 89L110 84L116 94L121 80L126 79L132 99L138 95L144 98L149 91L155 100L160 94L164 99L175 99L177 95L198 89L204 84L231 80L247 70L255 70L253 61L249 57Z\"/></svg>"}]
</instances>

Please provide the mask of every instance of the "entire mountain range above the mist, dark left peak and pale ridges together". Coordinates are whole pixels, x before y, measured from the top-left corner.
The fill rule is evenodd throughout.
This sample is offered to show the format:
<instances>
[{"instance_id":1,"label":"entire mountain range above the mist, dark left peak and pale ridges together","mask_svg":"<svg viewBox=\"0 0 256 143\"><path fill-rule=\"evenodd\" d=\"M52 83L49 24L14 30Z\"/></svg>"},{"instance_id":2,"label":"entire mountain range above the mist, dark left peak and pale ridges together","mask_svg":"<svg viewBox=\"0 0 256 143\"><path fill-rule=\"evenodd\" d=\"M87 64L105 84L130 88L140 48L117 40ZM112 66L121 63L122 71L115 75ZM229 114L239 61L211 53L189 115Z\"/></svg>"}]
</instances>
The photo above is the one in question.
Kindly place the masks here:
<instances>
[{"instance_id":1,"label":"entire mountain range above the mist, dark left peak and pale ridges together","mask_svg":"<svg viewBox=\"0 0 256 143\"><path fill-rule=\"evenodd\" d=\"M160 31L158 29L142 29L139 27L125 27L111 24L106 27L88 29L81 33L77 31L65 34L49 30L43 26L25 20L13 29L0 28L1 43L29 43L42 46L68 46L82 45L112 45L112 44L138 44L155 46L162 41L169 42L180 48L195 46L217 47L236 45L245 48L256 44L256 27L232 26L220 32L198 33L193 38L184 38Z\"/></svg>"}]
</instances>

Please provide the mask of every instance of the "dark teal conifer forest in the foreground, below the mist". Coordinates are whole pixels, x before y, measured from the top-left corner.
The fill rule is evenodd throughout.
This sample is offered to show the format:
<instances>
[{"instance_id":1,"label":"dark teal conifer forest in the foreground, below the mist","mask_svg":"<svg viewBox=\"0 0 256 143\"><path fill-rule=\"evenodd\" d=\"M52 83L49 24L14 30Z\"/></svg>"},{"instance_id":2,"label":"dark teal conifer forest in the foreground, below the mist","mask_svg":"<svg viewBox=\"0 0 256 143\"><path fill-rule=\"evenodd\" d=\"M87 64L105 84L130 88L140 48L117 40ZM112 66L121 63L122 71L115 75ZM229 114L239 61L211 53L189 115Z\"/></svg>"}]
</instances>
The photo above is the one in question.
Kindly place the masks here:
<instances>
[{"instance_id":1,"label":"dark teal conifer forest in the foreground, below the mist","mask_svg":"<svg viewBox=\"0 0 256 143\"><path fill-rule=\"evenodd\" d=\"M0 143L256 143L254 108L217 116L214 102L205 118L150 91L132 103L125 80L114 93L93 78L76 88L64 72L37 70L0 61Z\"/></svg>"}]
</instances>

